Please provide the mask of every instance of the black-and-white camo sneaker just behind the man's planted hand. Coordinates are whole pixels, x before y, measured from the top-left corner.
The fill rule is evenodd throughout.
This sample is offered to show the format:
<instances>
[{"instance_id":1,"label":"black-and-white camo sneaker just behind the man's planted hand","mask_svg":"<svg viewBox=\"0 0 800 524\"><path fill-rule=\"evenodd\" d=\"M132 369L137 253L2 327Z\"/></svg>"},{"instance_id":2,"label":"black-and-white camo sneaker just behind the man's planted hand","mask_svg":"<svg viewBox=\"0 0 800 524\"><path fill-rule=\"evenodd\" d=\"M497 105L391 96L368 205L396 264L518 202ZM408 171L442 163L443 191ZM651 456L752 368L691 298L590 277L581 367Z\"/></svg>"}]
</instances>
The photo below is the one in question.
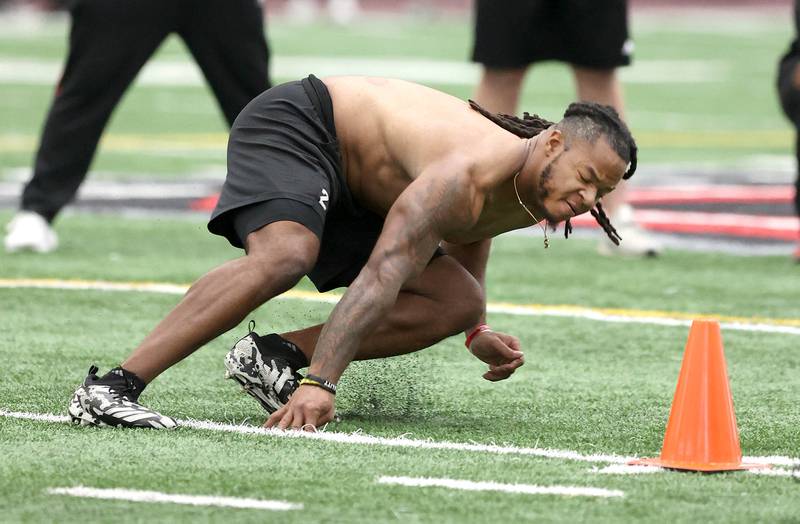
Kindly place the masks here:
<instances>
[{"instance_id":1,"label":"black-and-white camo sneaker just behind the man's planted hand","mask_svg":"<svg viewBox=\"0 0 800 524\"><path fill-rule=\"evenodd\" d=\"M225 356L225 378L238 382L269 413L289 402L303 375L298 369L308 366L300 348L272 333L253 332L241 338Z\"/></svg>"}]
</instances>

